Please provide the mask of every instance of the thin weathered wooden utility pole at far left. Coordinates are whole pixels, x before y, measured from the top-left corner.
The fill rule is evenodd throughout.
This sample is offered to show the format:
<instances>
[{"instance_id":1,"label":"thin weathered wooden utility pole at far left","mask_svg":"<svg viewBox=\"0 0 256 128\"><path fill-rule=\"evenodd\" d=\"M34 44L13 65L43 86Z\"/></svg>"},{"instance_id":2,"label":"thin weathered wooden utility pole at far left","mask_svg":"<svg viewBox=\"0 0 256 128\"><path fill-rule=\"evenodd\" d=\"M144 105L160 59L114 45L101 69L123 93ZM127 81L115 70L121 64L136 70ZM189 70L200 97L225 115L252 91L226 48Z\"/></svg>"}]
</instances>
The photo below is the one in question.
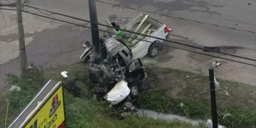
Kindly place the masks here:
<instances>
[{"instance_id":1,"label":"thin weathered wooden utility pole at far left","mask_svg":"<svg viewBox=\"0 0 256 128\"><path fill-rule=\"evenodd\" d=\"M21 14L21 0L16 0L16 9L17 9L17 21L18 21L18 44L19 44L19 57L20 57L20 65L21 65L21 78L25 78L26 71L27 71L27 60L26 60L25 38L24 38L24 30L23 30L22 14Z\"/></svg>"}]
</instances>

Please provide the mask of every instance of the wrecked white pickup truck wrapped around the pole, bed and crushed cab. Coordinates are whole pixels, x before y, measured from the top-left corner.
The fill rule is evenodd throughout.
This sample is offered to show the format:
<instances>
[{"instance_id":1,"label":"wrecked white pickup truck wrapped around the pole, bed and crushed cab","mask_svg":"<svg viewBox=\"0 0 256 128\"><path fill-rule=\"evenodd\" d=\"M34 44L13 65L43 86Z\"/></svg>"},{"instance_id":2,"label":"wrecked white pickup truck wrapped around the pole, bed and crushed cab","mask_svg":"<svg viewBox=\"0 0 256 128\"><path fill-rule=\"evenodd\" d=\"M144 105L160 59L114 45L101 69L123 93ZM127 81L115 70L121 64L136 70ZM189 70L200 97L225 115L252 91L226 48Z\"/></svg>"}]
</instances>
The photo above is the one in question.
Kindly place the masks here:
<instances>
[{"instance_id":1,"label":"wrecked white pickup truck wrapped around the pole, bed and crushed cab","mask_svg":"<svg viewBox=\"0 0 256 128\"><path fill-rule=\"evenodd\" d=\"M100 64L94 65L104 74L105 82L95 80L95 94L110 102L111 106L119 106L122 110L134 110L132 98L142 92L146 73L142 67L141 58L146 54L154 57L159 52L159 43L156 38L138 36L119 30L117 24L110 23L115 28L109 29L115 33L100 39L102 57ZM136 33L168 38L171 29L148 15L141 14L121 28ZM145 41L141 41L145 40ZM149 43L154 42L154 43ZM92 62L93 53L90 43L83 45L84 53L80 56L83 62ZM91 79L93 81L93 78Z\"/></svg>"}]
</instances>

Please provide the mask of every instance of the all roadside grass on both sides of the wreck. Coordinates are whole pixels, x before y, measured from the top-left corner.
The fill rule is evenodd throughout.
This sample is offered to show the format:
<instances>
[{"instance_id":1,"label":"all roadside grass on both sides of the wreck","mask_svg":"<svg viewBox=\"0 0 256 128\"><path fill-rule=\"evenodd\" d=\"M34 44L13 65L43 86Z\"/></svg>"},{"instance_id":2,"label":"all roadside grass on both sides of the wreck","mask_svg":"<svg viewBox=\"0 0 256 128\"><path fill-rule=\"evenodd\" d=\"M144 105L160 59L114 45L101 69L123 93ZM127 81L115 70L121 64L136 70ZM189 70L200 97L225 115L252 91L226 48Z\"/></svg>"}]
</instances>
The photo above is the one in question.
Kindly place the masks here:
<instances>
[{"instance_id":1,"label":"all roadside grass on both sides of the wreck","mask_svg":"<svg viewBox=\"0 0 256 128\"><path fill-rule=\"evenodd\" d=\"M68 127L193 127L184 122L167 122L135 115L120 119L106 102L99 103L93 100L92 92L88 87L89 70L87 65L82 63L45 69L43 76L38 75L44 80L38 79L38 77L31 80L21 80L10 75L9 85L19 85L22 91L0 93L0 127L4 126L5 99L11 101L7 121L9 124L46 80L63 80L60 75L63 70L67 70L71 78L78 78L76 85L82 89L81 98L73 97L64 91ZM148 77L145 86L148 87L145 88L146 92L139 95L135 105L157 112L182 114L193 119L210 119L210 92L207 76L156 67L146 68L146 73ZM254 103L256 102L256 95L254 90L256 87L240 82L221 80L218 77L217 80L220 82L220 87L216 90L219 122L228 127L255 127L256 108ZM229 95L225 95L224 90L228 91ZM181 102L183 107L181 107ZM226 113L230 113L231 116L223 118Z\"/></svg>"}]
</instances>

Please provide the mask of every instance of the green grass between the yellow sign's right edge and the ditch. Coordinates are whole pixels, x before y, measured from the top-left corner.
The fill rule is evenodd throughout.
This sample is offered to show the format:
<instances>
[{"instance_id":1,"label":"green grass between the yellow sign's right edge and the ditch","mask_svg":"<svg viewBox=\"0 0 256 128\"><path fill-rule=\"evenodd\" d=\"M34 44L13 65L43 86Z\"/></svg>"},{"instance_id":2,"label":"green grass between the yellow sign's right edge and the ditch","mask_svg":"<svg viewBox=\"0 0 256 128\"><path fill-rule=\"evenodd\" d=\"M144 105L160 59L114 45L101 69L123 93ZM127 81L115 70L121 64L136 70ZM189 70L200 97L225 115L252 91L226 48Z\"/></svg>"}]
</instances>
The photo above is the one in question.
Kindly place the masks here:
<instances>
[{"instance_id":1,"label":"green grass between the yellow sign's right edge and the ditch","mask_svg":"<svg viewBox=\"0 0 256 128\"><path fill-rule=\"evenodd\" d=\"M75 98L65 92L65 114L67 127L203 127L179 121L167 122L135 115L120 119L119 114L107 104L99 104L90 97Z\"/></svg>"}]
</instances>

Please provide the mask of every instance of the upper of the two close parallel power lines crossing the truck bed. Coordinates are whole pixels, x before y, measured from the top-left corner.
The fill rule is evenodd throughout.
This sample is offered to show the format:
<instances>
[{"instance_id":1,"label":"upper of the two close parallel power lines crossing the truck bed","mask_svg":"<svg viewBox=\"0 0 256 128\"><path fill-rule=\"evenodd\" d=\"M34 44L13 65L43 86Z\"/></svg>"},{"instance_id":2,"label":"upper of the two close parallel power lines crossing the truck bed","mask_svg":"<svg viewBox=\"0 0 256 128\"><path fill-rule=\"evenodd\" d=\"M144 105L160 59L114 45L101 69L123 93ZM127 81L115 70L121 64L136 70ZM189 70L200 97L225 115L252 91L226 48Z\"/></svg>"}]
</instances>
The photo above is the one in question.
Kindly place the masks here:
<instances>
[{"instance_id":1,"label":"upper of the two close parallel power lines crossing the truck bed","mask_svg":"<svg viewBox=\"0 0 256 128\"><path fill-rule=\"evenodd\" d=\"M24 5L24 6L27 6L27 5ZM45 9L39 9L39 8L34 7L34 6L27 6L27 7L30 7L30 8L36 9L36 10L47 11L49 13L57 14L57 15L60 15L60 16L65 16L65 17L68 17L68 18L74 18L74 19L79 20L79 21L85 21L85 22L88 22L88 23L95 23L95 22L85 20L85 19L82 19L82 18L68 16L68 15L65 15L65 14L60 14L60 13L56 13L56 12L53 12L53 11L48 11L48 10L45 10ZM100 26L108 27L108 28L115 28L113 26L107 26L107 25L102 24L102 23L97 23L97 24L100 25ZM167 39L164 39L164 38L159 38L159 37L156 37L156 36L149 36L149 35L142 34L142 33L137 33L137 32L134 32L134 31L128 31L128 30L125 30L125 29L122 29L122 28L119 28L119 31L126 31L128 33L134 33L134 34L149 37L149 38L156 38L156 39L159 39L161 41L166 41L166 42L169 42L169 43L175 43L175 44L178 44L178 45L181 45L181 46L187 46L187 47L196 48L196 49L200 49L200 50L208 50L208 51L214 52L214 53L229 55L229 56L233 56L233 57L236 57L236 58L242 58L242 59L245 59L245 60L256 61L256 59L252 59L252 58L246 58L246 57L242 57L242 56L239 56L239 55L232 55L232 54L228 54L228 53L223 53L223 52L220 52L220 51L217 51L217 50L212 50L212 49L209 49L209 48L201 48L201 47L198 47L198 46L192 46L192 45L181 43L181 42L178 42L178 41L170 41L170 40L167 40Z\"/></svg>"}]
</instances>

